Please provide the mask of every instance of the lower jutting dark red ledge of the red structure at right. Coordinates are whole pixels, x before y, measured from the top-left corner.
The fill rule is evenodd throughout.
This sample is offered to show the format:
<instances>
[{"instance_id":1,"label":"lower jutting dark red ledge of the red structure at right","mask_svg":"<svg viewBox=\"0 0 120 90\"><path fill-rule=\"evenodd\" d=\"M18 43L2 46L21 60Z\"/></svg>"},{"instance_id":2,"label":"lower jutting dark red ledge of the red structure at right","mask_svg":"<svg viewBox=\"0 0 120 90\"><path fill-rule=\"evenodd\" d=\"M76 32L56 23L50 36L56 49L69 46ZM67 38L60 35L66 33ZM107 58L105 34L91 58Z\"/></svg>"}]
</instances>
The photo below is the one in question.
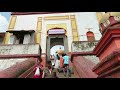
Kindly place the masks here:
<instances>
[{"instance_id":1,"label":"lower jutting dark red ledge of the red structure at right","mask_svg":"<svg viewBox=\"0 0 120 90\"><path fill-rule=\"evenodd\" d=\"M94 68L93 71L100 75L114 67L120 65L120 51L114 51L109 56L107 56L104 60L98 63Z\"/></svg>"}]
</instances>

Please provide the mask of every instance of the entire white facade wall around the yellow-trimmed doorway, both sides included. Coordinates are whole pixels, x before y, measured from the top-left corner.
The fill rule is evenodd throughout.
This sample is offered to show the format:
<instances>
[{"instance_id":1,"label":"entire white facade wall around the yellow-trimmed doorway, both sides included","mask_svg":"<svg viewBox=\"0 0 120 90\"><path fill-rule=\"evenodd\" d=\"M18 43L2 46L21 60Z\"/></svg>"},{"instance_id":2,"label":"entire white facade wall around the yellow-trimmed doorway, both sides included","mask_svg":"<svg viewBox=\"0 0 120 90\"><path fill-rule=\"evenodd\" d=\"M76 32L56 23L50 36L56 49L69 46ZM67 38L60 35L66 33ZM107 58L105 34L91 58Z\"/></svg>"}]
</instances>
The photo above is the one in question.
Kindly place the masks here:
<instances>
[{"instance_id":1,"label":"entire white facade wall around the yellow-trimmed doorway, both sides included","mask_svg":"<svg viewBox=\"0 0 120 90\"><path fill-rule=\"evenodd\" d=\"M81 41L87 41L86 33L88 30L85 28L88 28L88 27L93 28L91 29L91 31L93 31L96 40L99 40L101 38L95 12L18 15L14 30L36 30L38 17L64 16L64 15L76 15L78 33ZM42 33L43 33L41 36L42 37L42 41L41 41L42 53L46 52L46 25L59 24L59 23L67 24L68 45L69 45L69 51L71 51L71 43L73 39L72 39L72 29L71 29L70 20L59 20L59 21L49 20L49 21L42 22Z\"/></svg>"}]
</instances>

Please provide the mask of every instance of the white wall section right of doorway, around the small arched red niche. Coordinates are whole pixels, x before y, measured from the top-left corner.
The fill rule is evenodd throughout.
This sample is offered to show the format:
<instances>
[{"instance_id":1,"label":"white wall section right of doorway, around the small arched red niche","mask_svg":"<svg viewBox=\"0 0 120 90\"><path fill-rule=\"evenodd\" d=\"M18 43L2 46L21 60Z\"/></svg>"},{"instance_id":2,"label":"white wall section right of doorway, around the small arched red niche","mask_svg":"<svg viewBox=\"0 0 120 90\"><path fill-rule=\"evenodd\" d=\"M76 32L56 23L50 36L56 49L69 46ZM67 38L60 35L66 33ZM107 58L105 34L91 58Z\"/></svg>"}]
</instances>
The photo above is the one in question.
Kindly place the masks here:
<instances>
[{"instance_id":1,"label":"white wall section right of doorway, around the small arched red niche","mask_svg":"<svg viewBox=\"0 0 120 90\"><path fill-rule=\"evenodd\" d=\"M95 12L77 13L76 19L80 41L87 41L86 33L88 32L88 29L86 28L92 28L90 31L94 33L96 40L99 40L101 38L101 33L99 31Z\"/></svg>"}]
</instances>

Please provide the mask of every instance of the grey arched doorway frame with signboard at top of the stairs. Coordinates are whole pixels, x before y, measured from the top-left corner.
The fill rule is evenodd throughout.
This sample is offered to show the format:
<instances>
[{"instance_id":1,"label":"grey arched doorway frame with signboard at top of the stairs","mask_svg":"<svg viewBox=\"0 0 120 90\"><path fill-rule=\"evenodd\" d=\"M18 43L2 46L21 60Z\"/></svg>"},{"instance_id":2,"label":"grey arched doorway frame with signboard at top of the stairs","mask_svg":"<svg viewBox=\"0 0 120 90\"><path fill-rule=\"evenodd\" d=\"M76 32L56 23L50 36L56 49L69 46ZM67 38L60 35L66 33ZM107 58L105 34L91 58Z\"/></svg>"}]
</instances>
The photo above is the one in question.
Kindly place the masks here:
<instances>
[{"instance_id":1,"label":"grey arched doorway frame with signboard at top of the stairs","mask_svg":"<svg viewBox=\"0 0 120 90\"><path fill-rule=\"evenodd\" d=\"M46 43L46 53L47 53L47 61L50 60L50 49L55 45L64 46L64 52L68 53L68 40L66 34L66 30L63 28L52 28L47 32L47 43Z\"/></svg>"}]
</instances>

